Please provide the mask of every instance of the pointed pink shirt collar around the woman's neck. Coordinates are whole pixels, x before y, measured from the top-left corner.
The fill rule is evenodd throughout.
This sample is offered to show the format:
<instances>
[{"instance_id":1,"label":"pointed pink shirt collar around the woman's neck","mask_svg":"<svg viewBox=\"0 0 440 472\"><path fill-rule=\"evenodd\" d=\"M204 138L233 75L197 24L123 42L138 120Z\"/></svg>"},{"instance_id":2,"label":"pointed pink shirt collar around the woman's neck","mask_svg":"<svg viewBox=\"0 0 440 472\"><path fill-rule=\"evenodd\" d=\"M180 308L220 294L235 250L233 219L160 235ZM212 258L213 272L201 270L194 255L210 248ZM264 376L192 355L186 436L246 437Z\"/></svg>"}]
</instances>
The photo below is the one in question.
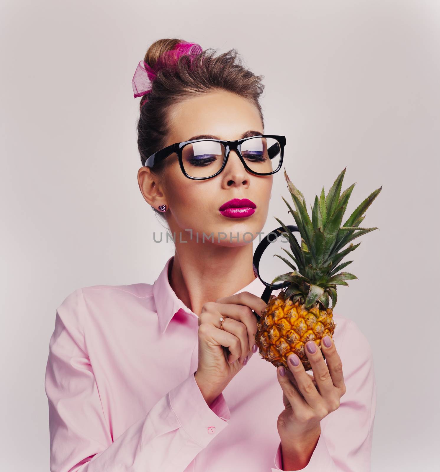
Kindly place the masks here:
<instances>
[{"instance_id":1,"label":"pointed pink shirt collar around the woman's neck","mask_svg":"<svg viewBox=\"0 0 440 472\"><path fill-rule=\"evenodd\" d=\"M193 315L196 318L198 317L196 313L192 312L185 305L185 303L183 303L182 300L178 298L172 287L169 285L168 270L173 260L174 256L171 256L168 259L165 267L161 270L161 273L153 284L154 302L156 304L157 316L159 318L159 327L162 334L167 329L170 320L179 310L183 310L184 312ZM257 277L254 278L250 284L246 285L246 287L237 290L235 294L239 292L250 292L254 295L261 296L264 288L264 284Z\"/></svg>"}]
</instances>

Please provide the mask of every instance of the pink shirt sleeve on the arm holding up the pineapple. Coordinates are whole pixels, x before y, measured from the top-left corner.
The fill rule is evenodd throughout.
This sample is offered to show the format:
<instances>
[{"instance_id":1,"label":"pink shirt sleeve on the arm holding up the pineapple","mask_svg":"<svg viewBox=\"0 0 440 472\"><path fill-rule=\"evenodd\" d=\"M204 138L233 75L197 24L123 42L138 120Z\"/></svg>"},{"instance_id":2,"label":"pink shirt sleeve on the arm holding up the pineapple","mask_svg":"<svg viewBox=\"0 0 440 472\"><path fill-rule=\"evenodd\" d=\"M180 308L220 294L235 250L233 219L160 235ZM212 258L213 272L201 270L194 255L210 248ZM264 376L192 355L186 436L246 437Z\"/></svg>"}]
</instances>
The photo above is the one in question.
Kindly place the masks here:
<instances>
[{"instance_id":1,"label":"pink shirt sleeve on the arm holding up the pineapple","mask_svg":"<svg viewBox=\"0 0 440 472\"><path fill-rule=\"evenodd\" d=\"M347 390L339 408L322 421L321 435L312 457L300 470L370 472L377 400L372 349L353 320L348 321L341 346L336 348L341 356ZM283 471L281 442L274 464L271 472Z\"/></svg>"}]
</instances>

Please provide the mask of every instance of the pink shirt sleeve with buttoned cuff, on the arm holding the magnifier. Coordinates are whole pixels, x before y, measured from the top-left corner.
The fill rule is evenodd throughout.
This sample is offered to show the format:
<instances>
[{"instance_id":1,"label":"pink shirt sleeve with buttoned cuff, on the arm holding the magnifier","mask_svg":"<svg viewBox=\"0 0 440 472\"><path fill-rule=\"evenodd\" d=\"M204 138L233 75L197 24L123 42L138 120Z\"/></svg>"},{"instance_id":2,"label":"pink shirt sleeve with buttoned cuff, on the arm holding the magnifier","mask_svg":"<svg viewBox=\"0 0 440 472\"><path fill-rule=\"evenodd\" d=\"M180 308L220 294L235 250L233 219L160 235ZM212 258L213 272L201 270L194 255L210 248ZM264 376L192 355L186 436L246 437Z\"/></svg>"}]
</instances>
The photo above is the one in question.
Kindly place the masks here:
<instances>
[{"instance_id":1,"label":"pink shirt sleeve with buttoned cuff, on the arm holding the magnifier","mask_svg":"<svg viewBox=\"0 0 440 472\"><path fill-rule=\"evenodd\" d=\"M223 394L208 406L194 372L112 440L84 342L82 289L57 309L49 342L51 472L179 472L228 426Z\"/></svg>"}]
</instances>

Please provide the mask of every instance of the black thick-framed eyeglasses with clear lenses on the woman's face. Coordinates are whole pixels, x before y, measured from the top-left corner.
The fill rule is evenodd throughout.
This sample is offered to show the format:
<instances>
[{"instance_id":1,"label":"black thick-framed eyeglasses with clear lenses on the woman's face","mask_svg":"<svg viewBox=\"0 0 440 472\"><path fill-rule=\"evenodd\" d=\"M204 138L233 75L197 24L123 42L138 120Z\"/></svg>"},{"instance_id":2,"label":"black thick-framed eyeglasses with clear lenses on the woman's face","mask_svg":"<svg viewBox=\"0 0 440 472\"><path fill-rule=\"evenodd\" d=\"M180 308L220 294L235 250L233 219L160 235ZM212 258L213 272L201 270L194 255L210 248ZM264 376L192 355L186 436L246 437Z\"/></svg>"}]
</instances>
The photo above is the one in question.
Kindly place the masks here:
<instances>
[{"instance_id":1,"label":"black thick-framed eyeglasses with clear lenses on the woman's face","mask_svg":"<svg viewBox=\"0 0 440 472\"><path fill-rule=\"evenodd\" d=\"M152 154L144 166L153 167L175 152L185 177L204 180L220 174L228 162L229 152L237 151L246 170L268 176L281 169L285 145L286 136L278 135L256 135L236 141L195 139L170 144Z\"/></svg>"}]
</instances>

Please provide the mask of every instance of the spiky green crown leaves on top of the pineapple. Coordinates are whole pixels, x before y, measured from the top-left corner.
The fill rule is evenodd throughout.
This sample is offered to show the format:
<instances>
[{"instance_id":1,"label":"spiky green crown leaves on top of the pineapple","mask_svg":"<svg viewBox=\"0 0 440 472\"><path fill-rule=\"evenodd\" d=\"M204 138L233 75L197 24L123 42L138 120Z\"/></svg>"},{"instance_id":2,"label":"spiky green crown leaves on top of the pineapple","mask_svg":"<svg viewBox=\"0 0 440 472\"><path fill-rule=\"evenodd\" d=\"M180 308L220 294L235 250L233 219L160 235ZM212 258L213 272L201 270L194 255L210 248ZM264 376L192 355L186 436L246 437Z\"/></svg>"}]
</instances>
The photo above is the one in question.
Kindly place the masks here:
<instances>
[{"instance_id":1,"label":"spiky green crown leaves on top of the pineapple","mask_svg":"<svg viewBox=\"0 0 440 472\"><path fill-rule=\"evenodd\" d=\"M311 206L312 218L307 212L304 195L292 183L286 169L284 169L284 177L295 210L286 199L283 198L283 200L295 219L301 236L301 244L298 243L296 237L293 236L286 225L276 218L283 227L285 231L283 234L290 243L291 253L287 250L284 251L295 262L297 268L286 258L278 256L288 264L293 272L282 274L275 278L272 283L277 280L291 282L286 290L286 296L293 296L294 301L302 299L305 308L310 308L316 303L321 303L322 306L328 308L330 299L332 308L335 306L337 301L336 286L348 286L346 280L357 278L349 272L339 272L353 262L347 261L340 264L342 259L360 244L353 244L351 241L356 237L378 229L361 228L359 225L365 218L365 211L381 192L382 186L368 195L346 222L342 224L348 200L355 186L355 184L350 185L341 193L346 169L343 169L338 175L327 195L324 187L322 187L320 196L315 196L313 206ZM347 244L349 246L345 248Z\"/></svg>"}]
</instances>

